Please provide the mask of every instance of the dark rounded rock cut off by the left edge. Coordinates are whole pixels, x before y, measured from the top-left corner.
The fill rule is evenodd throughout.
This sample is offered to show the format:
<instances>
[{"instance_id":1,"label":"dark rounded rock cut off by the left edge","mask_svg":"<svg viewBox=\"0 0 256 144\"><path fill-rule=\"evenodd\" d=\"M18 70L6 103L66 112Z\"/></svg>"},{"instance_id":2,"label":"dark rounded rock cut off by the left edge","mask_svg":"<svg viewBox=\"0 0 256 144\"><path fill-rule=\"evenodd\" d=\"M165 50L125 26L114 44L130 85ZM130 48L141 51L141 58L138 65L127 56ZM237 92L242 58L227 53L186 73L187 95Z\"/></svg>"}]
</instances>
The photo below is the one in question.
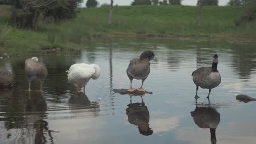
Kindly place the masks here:
<instances>
[{"instance_id":1,"label":"dark rounded rock cut off by the left edge","mask_svg":"<svg viewBox=\"0 0 256 144\"><path fill-rule=\"evenodd\" d=\"M0 88L13 86L13 74L8 70L0 69Z\"/></svg>"}]
</instances>

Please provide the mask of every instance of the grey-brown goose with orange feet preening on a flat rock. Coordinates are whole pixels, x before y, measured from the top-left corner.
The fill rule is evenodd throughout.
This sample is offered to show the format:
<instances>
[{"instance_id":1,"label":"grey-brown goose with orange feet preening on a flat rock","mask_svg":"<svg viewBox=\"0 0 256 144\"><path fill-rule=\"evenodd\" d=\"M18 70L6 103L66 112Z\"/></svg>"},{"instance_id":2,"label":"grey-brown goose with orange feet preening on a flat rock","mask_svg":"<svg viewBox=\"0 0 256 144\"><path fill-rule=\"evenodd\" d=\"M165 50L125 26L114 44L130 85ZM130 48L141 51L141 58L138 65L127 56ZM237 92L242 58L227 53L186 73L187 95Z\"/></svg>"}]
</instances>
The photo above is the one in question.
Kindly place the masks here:
<instances>
[{"instance_id":1,"label":"grey-brown goose with orange feet preening on a flat rock","mask_svg":"<svg viewBox=\"0 0 256 144\"><path fill-rule=\"evenodd\" d=\"M127 76L130 79L130 88L127 89L127 92L133 92L136 89L132 88L132 80L142 80L141 87L138 88L138 91L146 92L143 89L143 82L147 79L150 73L150 63L149 61L154 58L155 54L152 51L144 51L141 53L139 58L134 58L130 61L128 68L126 69Z\"/></svg>"}]
</instances>

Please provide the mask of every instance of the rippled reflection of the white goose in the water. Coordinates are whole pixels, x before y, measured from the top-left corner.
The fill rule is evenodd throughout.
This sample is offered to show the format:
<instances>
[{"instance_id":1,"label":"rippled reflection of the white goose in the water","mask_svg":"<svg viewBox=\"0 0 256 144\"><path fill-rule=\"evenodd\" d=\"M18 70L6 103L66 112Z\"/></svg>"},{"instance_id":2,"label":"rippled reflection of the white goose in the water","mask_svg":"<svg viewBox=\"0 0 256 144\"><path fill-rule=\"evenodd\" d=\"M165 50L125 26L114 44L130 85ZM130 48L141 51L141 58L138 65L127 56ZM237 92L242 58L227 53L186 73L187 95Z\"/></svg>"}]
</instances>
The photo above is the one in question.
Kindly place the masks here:
<instances>
[{"instance_id":1,"label":"rippled reflection of the white goose in the water","mask_svg":"<svg viewBox=\"0 0 256 144\"><path fill-rule=\"evenodd\" d=\"M97 117L100 115L98 102L90 101L83 92L71 95L68 99L68 105L75 117Z\"/></svg>"}]
</instances>

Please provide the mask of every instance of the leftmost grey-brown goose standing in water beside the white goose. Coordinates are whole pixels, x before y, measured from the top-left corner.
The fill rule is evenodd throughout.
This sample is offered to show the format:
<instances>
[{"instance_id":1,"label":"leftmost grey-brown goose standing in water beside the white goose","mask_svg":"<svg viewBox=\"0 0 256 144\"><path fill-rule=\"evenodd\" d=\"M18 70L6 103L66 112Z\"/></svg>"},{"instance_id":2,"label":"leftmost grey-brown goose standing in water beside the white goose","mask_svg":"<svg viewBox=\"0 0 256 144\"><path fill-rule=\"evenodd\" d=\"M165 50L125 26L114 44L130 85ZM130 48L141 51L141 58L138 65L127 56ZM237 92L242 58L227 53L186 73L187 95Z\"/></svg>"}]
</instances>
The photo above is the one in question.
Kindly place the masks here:
<instances>
[{"instance_id":1,"label":"leftmost grey-brown goose standing in water beside the white goose","mask_svg":"<svg viewBox=\"0 0 256 144\"><path fill-rule=\"evenodd\" d=\"M40 82L39 91L42 91L44 80L48 74L44 63L38 62L37 57L28 58L25 61L25 72L28 81L28 92L31 91L30 83L32 80L37 80Z\"/></svg>"}]
</instances>

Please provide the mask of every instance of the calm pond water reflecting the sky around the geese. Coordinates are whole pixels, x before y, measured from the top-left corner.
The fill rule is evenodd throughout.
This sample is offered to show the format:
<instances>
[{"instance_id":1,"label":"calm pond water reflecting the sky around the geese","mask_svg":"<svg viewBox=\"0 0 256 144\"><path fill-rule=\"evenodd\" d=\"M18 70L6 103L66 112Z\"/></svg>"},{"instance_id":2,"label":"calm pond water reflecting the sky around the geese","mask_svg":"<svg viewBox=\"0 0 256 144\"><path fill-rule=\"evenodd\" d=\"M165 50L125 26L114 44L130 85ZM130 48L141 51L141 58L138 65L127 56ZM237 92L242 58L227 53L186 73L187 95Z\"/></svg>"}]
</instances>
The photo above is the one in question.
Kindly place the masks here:
<instances>
[{"instance_id":1,"label":"calm pond water reflecting the sky around the geese","mask_svg":"<svg viewBox=\"0 0 256 144\"><path fill-rule=\"evenodd\" d=\"M157 49L153 49L157 45ZM129 88L126 68L144 50L155 52L141 97L114 93ZM210 66L218 53L220 85L196 87L191 73ZM251 40L95 38L83 50L19 53L0 62L15 75L14 87L1 90L0 143L254 143L256 49ZM24 62L37 56L46 64L43 92L27 92ZM74 63L96 63L101 76L77 95L66 70ZM133 80L138 88L140 80ZM32 83L32 90L39 83ZM210 104L209 104L210 102ZM196 109L197 106L197 109ZM193 113L193 114L192 114ZM193 118L194 117L194 118ZM200 120L201 119L201 120ZM201 123L200 123L201 122ZM216 128L210 130L209 126ZM211 135L212 133L212 135Z\"/></svg>"}]
</instances>

